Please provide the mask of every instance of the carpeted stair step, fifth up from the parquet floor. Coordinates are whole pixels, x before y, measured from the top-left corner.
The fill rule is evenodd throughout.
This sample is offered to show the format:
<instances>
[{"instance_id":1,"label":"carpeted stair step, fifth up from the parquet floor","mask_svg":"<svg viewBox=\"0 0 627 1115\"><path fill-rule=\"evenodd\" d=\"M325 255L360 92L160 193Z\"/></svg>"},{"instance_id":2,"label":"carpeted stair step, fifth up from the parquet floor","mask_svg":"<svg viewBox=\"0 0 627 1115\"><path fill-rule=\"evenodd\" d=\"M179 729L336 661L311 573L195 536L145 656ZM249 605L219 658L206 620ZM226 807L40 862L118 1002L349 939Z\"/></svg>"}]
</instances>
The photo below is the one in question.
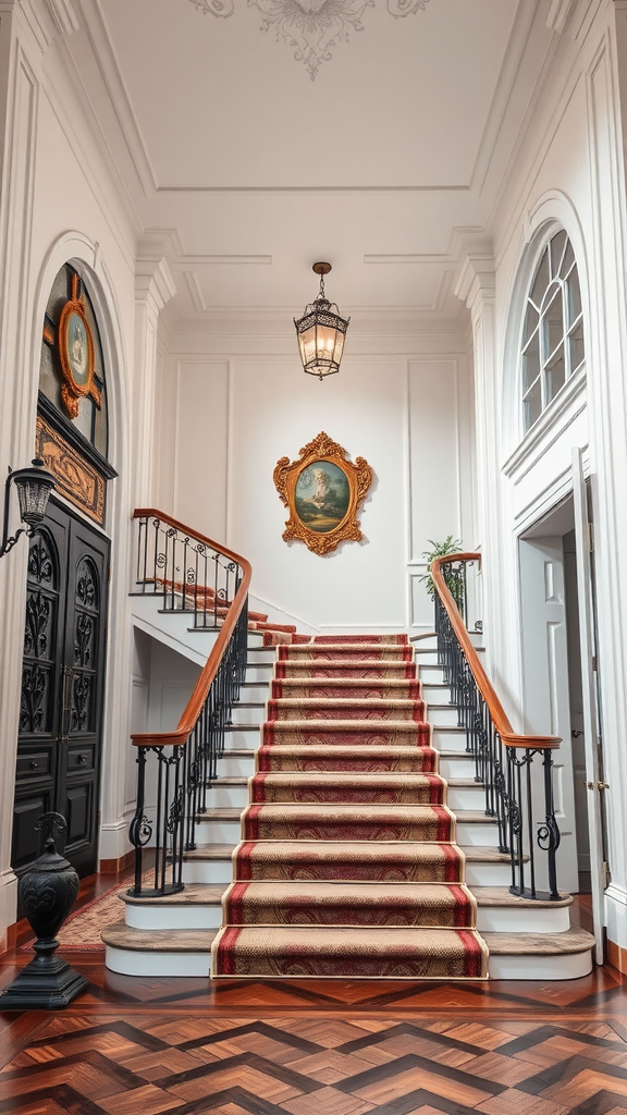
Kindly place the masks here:
<instances>
[{"instance_id":1,"label":"carpeted stair step, fifth up from the parquet floor","mask_svg":"<svg viewBox=\"0 0 627 1115\"><path fill-rule=\"evenodd\" d=\"M442 805L446 783L437 774L347 774L287 772L257 774L251 801L259 803L328 803L351 801L372 805Z\"/></svg>"}]
</instances>

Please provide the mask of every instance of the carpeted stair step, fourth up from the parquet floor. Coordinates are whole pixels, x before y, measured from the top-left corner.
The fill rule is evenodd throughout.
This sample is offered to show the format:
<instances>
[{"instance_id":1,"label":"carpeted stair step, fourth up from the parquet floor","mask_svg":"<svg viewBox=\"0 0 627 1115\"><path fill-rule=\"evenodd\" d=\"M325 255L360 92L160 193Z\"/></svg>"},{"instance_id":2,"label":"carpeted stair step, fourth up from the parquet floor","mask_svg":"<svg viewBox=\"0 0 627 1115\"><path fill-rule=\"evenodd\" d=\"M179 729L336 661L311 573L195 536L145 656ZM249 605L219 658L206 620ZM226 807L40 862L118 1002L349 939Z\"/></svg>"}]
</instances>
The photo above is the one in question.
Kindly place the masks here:
<instances>
[{"instance_id":1,"label":"carpeted stair step, fourth up from the parquet floor","mask_svg":"<svg viewBox=\"0 0 627 1115\"><path fill-rule=\"evenodd\" d=\"M242 813L242 840L442 842L454 838L455 817L443 805L249 805Z\"/></svg>"}]
</instances>

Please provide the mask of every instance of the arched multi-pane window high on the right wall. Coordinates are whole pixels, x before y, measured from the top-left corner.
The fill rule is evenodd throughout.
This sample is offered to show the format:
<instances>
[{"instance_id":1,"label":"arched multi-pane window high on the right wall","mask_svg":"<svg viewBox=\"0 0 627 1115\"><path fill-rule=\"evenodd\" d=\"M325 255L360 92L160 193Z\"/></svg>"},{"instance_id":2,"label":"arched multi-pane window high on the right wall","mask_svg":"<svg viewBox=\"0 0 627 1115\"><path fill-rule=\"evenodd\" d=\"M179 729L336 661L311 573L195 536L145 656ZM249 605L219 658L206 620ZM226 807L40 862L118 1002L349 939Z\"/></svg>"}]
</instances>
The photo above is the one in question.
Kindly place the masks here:
<instances>
[{"instance_id":1,"label":"arched multi-pane window high on the right wall","mask_svg":"<svg viewBox=\"0 0 627 1115\"><path fill-rule=\"evenodd\" d=\"M551 237L536 269L527 298L521 355L527 433L585 360L579 275L563 229Z\"/></svg>"}]
</instances>

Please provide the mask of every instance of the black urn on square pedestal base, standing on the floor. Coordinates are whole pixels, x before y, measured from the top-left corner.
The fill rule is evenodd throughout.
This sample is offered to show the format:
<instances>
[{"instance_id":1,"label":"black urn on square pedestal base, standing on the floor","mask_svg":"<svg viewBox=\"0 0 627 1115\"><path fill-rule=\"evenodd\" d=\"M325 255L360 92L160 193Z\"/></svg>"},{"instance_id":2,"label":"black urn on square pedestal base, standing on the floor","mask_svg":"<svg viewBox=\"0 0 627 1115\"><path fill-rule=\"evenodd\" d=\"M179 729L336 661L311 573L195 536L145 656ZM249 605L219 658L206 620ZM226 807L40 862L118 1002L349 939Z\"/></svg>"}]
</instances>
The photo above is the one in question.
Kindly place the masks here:
<instances>
[{"instance_id":1,"label":"black urn on square pedestal base, standing on the floor","mask_svg":"<svg viewBox=\"0 0 627 1115\"><path fill-rule=\"evenodd\" d=\"M58 1010L87 987L87 980L55 956L57 933L78 894L78 875L56 850L66 830L60 813L45 813L37 822L44 851L18 883L20 905L37 940L35 960L0 995L0 1010Z\"/></svg>"}]
</instances>

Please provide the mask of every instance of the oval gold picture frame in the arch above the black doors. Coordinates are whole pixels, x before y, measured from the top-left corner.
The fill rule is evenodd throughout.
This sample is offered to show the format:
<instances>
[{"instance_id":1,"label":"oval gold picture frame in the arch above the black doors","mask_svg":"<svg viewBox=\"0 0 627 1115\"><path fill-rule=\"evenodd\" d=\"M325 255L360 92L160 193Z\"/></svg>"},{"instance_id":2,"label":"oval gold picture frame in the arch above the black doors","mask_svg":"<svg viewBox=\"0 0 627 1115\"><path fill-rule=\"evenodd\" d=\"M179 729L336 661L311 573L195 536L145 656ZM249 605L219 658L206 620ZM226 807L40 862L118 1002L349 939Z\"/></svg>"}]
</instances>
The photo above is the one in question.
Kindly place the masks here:
<instances>
[{"instance_id":1,"label":"oval gold picture frame in the arch above the black doors","mask_svg":"<svg viewBox=\"0 0 627 1115\"><path fill-rule=\"evenodd\" d=\"M83 300L78 297L78 277L74 275L71 298L59 318L59 357L61 361L61 398L70 418L78 417L78 404L90 395L100 406L100 392L94 382L94 340Z\"/></svg>"}]
</instances>

